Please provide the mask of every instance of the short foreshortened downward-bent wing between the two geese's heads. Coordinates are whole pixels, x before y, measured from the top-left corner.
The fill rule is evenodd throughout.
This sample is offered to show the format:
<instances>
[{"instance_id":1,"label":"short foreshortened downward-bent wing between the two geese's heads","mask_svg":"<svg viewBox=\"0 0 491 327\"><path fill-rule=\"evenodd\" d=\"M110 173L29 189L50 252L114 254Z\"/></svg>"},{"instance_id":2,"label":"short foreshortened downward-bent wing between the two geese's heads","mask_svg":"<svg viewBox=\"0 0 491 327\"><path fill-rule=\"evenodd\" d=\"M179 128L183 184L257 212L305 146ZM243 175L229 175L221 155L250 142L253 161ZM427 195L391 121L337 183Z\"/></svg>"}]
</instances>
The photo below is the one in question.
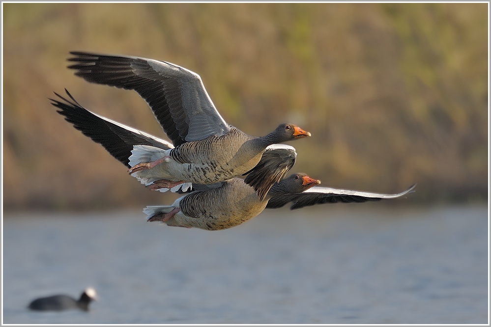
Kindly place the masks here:
<instances>
[{"instance_id":1,"label":"short foreshortened downward-bent wing between the two geese's heads","mask_svg":"<svg viewBox=\"0 0 491 327\"><path fill-rule=\"evenodd\" d=\"M296 157L294 147L286 144L272 144L264 150L260 162L243 174L247 175L244 182L253 187L262 200L271 186L281 180L293 167Z\"/></svg>"}]
</instances>

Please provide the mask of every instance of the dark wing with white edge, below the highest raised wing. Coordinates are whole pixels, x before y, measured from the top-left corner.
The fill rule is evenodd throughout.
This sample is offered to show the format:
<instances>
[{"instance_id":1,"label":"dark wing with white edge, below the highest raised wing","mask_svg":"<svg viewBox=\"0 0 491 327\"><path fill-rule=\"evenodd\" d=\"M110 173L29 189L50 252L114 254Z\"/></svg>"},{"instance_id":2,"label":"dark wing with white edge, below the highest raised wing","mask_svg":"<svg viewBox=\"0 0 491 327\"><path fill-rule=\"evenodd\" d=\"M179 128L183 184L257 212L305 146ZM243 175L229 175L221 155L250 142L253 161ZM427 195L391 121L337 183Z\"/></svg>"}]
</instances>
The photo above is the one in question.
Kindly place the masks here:
<instances>
[{"instance_id":1,"label":"dark wing with white edge, below the highest raised wing","mask_svg":"<svg viewBox=\"0 0 491 327\"><path fill-rule=\"evenodd\" d=\"M85 136L102 144L113 157L128 168L131 168L129 157L134 145L150 145L163 150L173 148L173 145L164 139L146 134L85 109L66 89L65 91L72 101L57 93L55 94L64 102L49 99L52 101L52 105L59 109L57 110L58 113L65 116L65 120L72 123L73 127Z\"/></svg>"}]
</instances>

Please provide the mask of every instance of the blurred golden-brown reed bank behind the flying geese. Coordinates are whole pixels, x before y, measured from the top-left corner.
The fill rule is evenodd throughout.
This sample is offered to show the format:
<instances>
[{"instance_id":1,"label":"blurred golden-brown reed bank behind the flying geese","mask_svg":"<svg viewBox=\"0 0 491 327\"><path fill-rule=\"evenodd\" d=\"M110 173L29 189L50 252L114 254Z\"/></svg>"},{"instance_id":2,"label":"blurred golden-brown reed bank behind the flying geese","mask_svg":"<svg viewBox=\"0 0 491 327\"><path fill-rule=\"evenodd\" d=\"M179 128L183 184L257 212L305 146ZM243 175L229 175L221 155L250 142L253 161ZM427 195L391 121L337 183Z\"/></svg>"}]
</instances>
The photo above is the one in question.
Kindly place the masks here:
<instances>
[{"instance_id":1,"label":"blurred golden-brown reed bank behind the flying geese","mask_svg":"<svg viewBox=\"0 0 491 327\"><path fill-rule=\"evenodd\" d=\"M227 122L263 136L292 122L292 171L404 202L488 199L487 3L2 3L3 208L169 203L48 97L153 135L133 91L89 84L69 51L129 54L197 72Z\"/></svg>"}]
</instances>

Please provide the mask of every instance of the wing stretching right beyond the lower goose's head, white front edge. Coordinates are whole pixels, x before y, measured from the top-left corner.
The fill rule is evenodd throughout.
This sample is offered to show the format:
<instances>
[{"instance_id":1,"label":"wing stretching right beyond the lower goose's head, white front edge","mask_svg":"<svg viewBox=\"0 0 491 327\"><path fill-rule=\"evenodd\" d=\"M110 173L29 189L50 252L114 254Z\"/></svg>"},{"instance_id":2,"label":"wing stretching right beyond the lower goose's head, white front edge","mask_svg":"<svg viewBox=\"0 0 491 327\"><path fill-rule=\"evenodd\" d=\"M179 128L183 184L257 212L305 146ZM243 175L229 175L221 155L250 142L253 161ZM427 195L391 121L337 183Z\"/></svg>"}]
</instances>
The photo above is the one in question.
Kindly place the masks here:
<instances>
[{"instance_id":1,"label":"wing stretching right beyond the lower goose's head, white front edge","mask_svg":"<svg viewBox=\"0 0 491 327\"><path fill-rule=\"evenodd\" d=\"M381 194L362 191L339 190L323 187L313 187L298 194L287 194L276 196L269 200L266 208L274 209L283 207L285 204L292 202L290 209L298 209L314 204L336 203L336 202L366 202L379 201L381 199L393 199L401 197L414 190L416 184L404 192L398 194Z\"/></svg>"}]
</instances>

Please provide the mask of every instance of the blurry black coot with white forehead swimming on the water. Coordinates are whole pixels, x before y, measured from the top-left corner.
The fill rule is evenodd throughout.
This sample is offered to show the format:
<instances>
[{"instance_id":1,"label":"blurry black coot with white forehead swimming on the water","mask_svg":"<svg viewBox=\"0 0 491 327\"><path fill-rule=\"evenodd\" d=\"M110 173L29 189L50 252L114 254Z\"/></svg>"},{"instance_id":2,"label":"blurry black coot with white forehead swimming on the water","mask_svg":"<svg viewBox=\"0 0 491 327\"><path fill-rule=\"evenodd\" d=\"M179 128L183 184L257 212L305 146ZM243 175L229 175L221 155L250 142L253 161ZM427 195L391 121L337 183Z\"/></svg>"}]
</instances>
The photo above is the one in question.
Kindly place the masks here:
<instances>
[{"instance_id":1,"label":"blurry black coot with white forehead swimming on the water","mask_svg":"<svg viewBox=\"0 0 491 327\"><path fill-rule=\"evenodd\" d=\"M97 300L97 294L93 288L89 287L82 293L79 300L75 300L68 295L53 295L33 300L29 303L29 309L37 311L63 311L71 309L88 311L88 305L93 300Z\"/></svg>"}]
</instances>

